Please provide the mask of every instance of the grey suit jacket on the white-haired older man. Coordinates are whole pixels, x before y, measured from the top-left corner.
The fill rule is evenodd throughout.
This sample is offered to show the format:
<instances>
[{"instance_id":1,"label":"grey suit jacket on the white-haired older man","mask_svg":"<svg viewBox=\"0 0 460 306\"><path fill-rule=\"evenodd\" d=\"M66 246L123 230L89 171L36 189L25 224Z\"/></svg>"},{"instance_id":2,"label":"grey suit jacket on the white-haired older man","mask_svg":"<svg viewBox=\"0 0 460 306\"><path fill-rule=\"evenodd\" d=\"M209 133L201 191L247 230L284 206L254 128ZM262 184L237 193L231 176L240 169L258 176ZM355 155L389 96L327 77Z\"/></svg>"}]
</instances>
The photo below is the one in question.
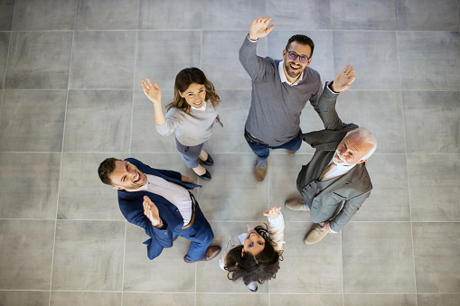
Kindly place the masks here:
<instances>
[{"instance_id":1,"label":"grey suit jacket on the white-haired older man","mask_svg":"<svg viewBox=\"0 0 460 306\"><path fill-rule=\"evenodd\" d=\"M310 208L312 221L319 223L331 220L329 227L335 232L342 229L361 208L372 190L371 178L365 162L362 162L354 166L350 172L333 179L335 181L318 192L320 182L317 179L324 167L331 162L333 153L345 134L358 127L354 124L344 124L339 118L335 111L337 97L338 95L334 95L328 88L324 88L319 107L325 130L302 134L302 139L316 151L312 160L302 167L297 177L297 189ZM335 216L343 201L343 209Z\"/></svg>"}]
</instances>

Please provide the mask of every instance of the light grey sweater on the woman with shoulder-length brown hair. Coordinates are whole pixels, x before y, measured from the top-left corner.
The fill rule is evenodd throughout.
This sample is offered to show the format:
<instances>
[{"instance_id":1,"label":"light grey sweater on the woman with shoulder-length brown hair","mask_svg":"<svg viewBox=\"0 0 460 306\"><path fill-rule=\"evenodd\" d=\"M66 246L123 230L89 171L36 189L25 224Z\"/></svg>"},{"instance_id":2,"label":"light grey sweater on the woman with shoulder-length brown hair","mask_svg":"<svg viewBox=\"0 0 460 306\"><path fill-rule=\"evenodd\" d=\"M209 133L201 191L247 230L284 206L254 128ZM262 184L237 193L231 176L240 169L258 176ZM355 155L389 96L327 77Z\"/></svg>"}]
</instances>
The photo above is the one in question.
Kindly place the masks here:
<instances>
[{"instance_id":1,"label":"light grey sweater on the woman with shoulder-length brown hair","mask_svg":"<svg viewBox=\"0 0 460 306\"><path fill-rule=\"evenodd\" d=\"M206 110L191 109L190 115L178 108L171 108L166 114L166 123L156 125L156 131L162 135L172 134L186 146L202 144L211 138L217 111L211 102L206 102Z\"/></svg>"}]
</instances>

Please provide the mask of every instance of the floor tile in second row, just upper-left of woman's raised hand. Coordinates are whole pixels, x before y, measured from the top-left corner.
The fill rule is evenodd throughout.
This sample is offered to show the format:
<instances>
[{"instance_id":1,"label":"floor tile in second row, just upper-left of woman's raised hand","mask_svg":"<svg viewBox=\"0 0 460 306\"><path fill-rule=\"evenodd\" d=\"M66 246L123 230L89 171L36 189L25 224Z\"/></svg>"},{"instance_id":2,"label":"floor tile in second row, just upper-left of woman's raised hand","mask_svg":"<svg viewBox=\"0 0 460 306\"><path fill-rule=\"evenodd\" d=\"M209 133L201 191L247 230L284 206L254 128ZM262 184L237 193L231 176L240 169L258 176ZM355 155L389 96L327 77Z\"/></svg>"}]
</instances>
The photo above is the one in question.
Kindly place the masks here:
<instances>
[{"instance_id":1,"label":"floor tile in second row, just upper-left of woman's raised hand","mask_svg":"<svg viewBox=\"0 0 460 306\"><path fill-rule=\"evenodd\" d=\"M134 31L77 31L70 88L133 88Z\"/></svg>"}]
</instances>

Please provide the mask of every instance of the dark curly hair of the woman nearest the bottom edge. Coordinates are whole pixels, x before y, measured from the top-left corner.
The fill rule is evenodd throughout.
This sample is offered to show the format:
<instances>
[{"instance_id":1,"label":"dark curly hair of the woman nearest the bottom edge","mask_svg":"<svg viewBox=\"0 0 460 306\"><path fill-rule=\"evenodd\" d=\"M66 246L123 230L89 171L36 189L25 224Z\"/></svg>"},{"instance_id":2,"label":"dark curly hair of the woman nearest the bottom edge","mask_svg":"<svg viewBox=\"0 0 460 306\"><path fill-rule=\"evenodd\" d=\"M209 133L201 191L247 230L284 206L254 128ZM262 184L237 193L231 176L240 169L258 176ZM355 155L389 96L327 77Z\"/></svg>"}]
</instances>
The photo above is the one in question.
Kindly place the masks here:
<instances>
[{"instance_id":1,"label":"dark curly hair of the woman nearest the bottom edge","mask_svg":"<svg viewBox=\"0 0 460 306\"><path fill-rule=\"evenodd\" d=\"M242 279L245 285L251 282L264 283L272 278L276 278L279 270L279 260L281 256L273 247L273 241L268 236L267 225L254 228L258 235L262 236L266 243L262 252L253 256L244 252L241 256L243 246L233 247L225 257L224 269L229 272L227 277L234 283Z\"/></svg>"}]
</instances>

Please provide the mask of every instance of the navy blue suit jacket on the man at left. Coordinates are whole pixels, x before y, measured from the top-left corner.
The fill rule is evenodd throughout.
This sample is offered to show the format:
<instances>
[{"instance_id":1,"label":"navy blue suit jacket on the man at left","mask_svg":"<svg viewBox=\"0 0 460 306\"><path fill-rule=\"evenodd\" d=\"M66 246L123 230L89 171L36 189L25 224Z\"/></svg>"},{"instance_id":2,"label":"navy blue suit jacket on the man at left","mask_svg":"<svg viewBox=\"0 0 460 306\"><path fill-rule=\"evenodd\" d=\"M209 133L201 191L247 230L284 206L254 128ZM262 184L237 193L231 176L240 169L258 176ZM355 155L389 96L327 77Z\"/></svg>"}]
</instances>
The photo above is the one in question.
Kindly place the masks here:
<instances>
[{"instance_id":1,"label":"navy blue suit jacket on the man at left","mask_svg":"<svg viewBox=\"0 0 460 306\"><path fill-rule=\"evenodd\" d=\"M154 169L134 158L127 158L126 161L136 165L140 172L158 176L166 181L181 185L188 190L201 186L182 182L182 175L179 172ZM158 208L160 218L162 218L164 222L164 227L162 229L152 226L152 222L144 215L144 207L142 205L144 196L150 198ZM156 256L160 255L164 247L173 246L174 230L179 230L183 227L183 218L179 209L177 209L173 203L155 193L148 191L128 192L125 190L118 190L118 205L123 216L127 218L127 221L144 228L146 234L151 237L144 242L147 245L147 256L149 259L154 259Z\"/></svg>"}]
</instances>

